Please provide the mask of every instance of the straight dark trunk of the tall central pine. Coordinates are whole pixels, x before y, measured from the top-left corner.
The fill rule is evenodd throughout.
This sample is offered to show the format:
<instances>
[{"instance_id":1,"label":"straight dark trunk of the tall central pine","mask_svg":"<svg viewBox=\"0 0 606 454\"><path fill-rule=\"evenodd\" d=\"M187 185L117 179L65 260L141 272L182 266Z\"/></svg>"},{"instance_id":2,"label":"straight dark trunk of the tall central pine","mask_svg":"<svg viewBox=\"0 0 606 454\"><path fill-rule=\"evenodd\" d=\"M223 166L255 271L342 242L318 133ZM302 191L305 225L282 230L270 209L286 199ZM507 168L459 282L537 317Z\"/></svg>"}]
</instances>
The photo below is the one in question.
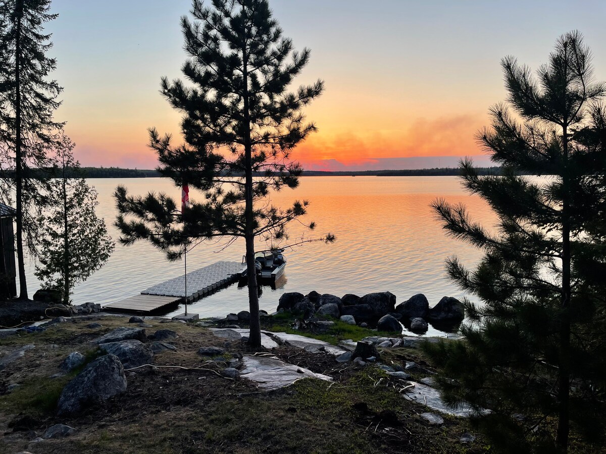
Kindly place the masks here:
<instances>
[{"instance_id":1,"label":"straight dark trunk of the tall central pine","mask_svg":"<svg viewBox=\"0 0 606 454\"><path fill-rule=\"evenodd\" d=\"M248 344L253 347L261 346L261 323L259 322L259 294L257 284L257 273L255 268L255 230L253 223L255 215L253 212L253 160L252 144L250 138L250 111L248 110L248 50L245 35L246 25L244 21L244 42L242 43L242 79L244 83L244 192L245 192L245 232L246 242L246 272L248 277L248 305L250 306L250 334Z\"/></svg>"}]
</instances>

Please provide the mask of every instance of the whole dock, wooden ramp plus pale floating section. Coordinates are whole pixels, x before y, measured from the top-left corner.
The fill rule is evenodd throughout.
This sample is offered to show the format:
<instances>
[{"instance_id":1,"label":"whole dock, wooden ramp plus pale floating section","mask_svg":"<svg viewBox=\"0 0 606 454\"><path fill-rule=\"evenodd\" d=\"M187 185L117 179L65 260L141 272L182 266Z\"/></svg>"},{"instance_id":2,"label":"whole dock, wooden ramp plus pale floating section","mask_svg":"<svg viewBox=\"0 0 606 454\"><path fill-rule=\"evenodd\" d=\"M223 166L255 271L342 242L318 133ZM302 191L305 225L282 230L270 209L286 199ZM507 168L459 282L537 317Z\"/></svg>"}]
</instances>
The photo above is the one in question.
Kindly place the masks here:
<instances>
[{"instance_id":1,"label":"whole dock, wooden ramp plus pale floating section","mask_svg":"<svg viewBox=\"0 0 606 454\"><path fill-rule=\"evenodd\" d=\"M187 273L187 295L185 276L175 277L145 289L140 295L126 298L116 303L104 304L103 308L112 312L137 312L149 314L166 309L171 304L187 298L194 301L211 294L238 280L242 271L239 262L217 262Z\"/></svg>"}]
</instances>

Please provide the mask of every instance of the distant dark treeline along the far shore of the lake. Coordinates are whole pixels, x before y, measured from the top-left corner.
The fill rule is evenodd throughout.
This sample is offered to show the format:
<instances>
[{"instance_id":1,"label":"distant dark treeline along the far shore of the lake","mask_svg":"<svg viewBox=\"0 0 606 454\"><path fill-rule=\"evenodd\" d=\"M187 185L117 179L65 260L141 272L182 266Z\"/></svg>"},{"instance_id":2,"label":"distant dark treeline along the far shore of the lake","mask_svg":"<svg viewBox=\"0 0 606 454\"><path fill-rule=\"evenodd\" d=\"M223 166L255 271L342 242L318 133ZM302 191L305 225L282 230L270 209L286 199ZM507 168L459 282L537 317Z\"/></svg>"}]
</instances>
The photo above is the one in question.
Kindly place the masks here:
<instances>
[{"instance_id":1,"label":"distant dark treeline along the far shore of the lake","mask_svg":"<svg viewBox=\"0 0 606 454\"><path fill-rule=\"evenodd\" d=\"M50 170L30 170L30 172L44 173L44 176L61 177L61 169L56 169L54 172ZM478 168L481 175L499 175L501 174L500 167L481 167ZM304 177L433 177L433 176L458 176L461 174L459 168L433 168L433 169L414 169L414 170L365 170L358 172L351 171L319 171L306 170L303 172ZM257 176L261 176L258 174ZM6 177L12 177L12 173L5 173ZM79 169L67 169L66 176L85 177L85 178L154 178L160 174L156 170L148 169L123 169L120 167L81 167Z\"/></svg>"}]
</instances>

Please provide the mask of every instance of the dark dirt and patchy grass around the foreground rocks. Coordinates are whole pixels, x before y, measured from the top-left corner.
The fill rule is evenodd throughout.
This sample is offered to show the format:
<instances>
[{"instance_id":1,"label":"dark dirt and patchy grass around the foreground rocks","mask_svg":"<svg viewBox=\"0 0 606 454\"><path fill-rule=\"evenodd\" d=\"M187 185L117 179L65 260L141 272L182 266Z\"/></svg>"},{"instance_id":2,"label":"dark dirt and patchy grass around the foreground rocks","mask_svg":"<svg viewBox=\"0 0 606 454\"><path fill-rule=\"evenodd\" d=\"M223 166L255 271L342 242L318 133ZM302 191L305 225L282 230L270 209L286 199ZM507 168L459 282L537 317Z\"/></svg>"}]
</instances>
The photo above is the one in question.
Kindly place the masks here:
<instances>
[{"instance_id":1,"label":"dark dirt and patchy grass around the foreground rocks","mask_svg":"<svg viewBox=\"0 0 606 454\"><path fill-rule=\"evenodd\" d=\"M102 327L87 327L92 321ZM256 352L246 344L225 341L191 324L151 319L145 320L153 325L146 329L148 335L156 329L179 334L168 341L176 352L153 359L164 367L128 371L128 389L122 395L78 415L56 416L61 390L75 375L50 378L59 372L59 364L73 351L93 360L100 353L90 340L128 326L127 321L92 316L0 340L0 359L35 344L0 370L0 453L490 452L481 436L469 445L459 441L473 431L465 419L444 416L444 424L429 425L419 416L427 407L405 400L400 392L404 385L388 380L378 367L341 364L328 354L282 346L271 353L329 375L334 382L299 380L267 392L247 380L220 377L216 371L225 363L198 355L201 346L224 347L227 360ZM385 354L385 362L410 360L423 364L418 350ZM20 386L7 393L10 384ZM66 438L32 442L58 423L77 431Z\"/></svg>"}]
</instances>

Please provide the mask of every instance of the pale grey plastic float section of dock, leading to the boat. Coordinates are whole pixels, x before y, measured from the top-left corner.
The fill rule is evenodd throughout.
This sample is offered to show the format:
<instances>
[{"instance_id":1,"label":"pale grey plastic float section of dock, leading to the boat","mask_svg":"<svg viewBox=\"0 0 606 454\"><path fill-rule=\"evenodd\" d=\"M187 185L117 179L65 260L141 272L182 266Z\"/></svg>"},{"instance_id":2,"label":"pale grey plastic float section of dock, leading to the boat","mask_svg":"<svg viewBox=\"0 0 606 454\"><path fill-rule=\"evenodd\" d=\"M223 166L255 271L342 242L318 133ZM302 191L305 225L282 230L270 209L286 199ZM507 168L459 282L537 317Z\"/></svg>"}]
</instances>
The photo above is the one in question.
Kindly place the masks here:
<instances>
[{"instance_id":1,"label":"pale grey plastic float section of dock, leading to the boat","mask_svg":"<svg viewBox=\"0 0 606 454\"><path fill-rule=\"evenodd\" d=\"M235 282L241 271L241 263L217 262L187 273L187 295L185 295L185 276L159 283L145 289L141 294L179 298L187 296L188 301L195 300L224 285Z\"/></svg>"}]
</instances>

